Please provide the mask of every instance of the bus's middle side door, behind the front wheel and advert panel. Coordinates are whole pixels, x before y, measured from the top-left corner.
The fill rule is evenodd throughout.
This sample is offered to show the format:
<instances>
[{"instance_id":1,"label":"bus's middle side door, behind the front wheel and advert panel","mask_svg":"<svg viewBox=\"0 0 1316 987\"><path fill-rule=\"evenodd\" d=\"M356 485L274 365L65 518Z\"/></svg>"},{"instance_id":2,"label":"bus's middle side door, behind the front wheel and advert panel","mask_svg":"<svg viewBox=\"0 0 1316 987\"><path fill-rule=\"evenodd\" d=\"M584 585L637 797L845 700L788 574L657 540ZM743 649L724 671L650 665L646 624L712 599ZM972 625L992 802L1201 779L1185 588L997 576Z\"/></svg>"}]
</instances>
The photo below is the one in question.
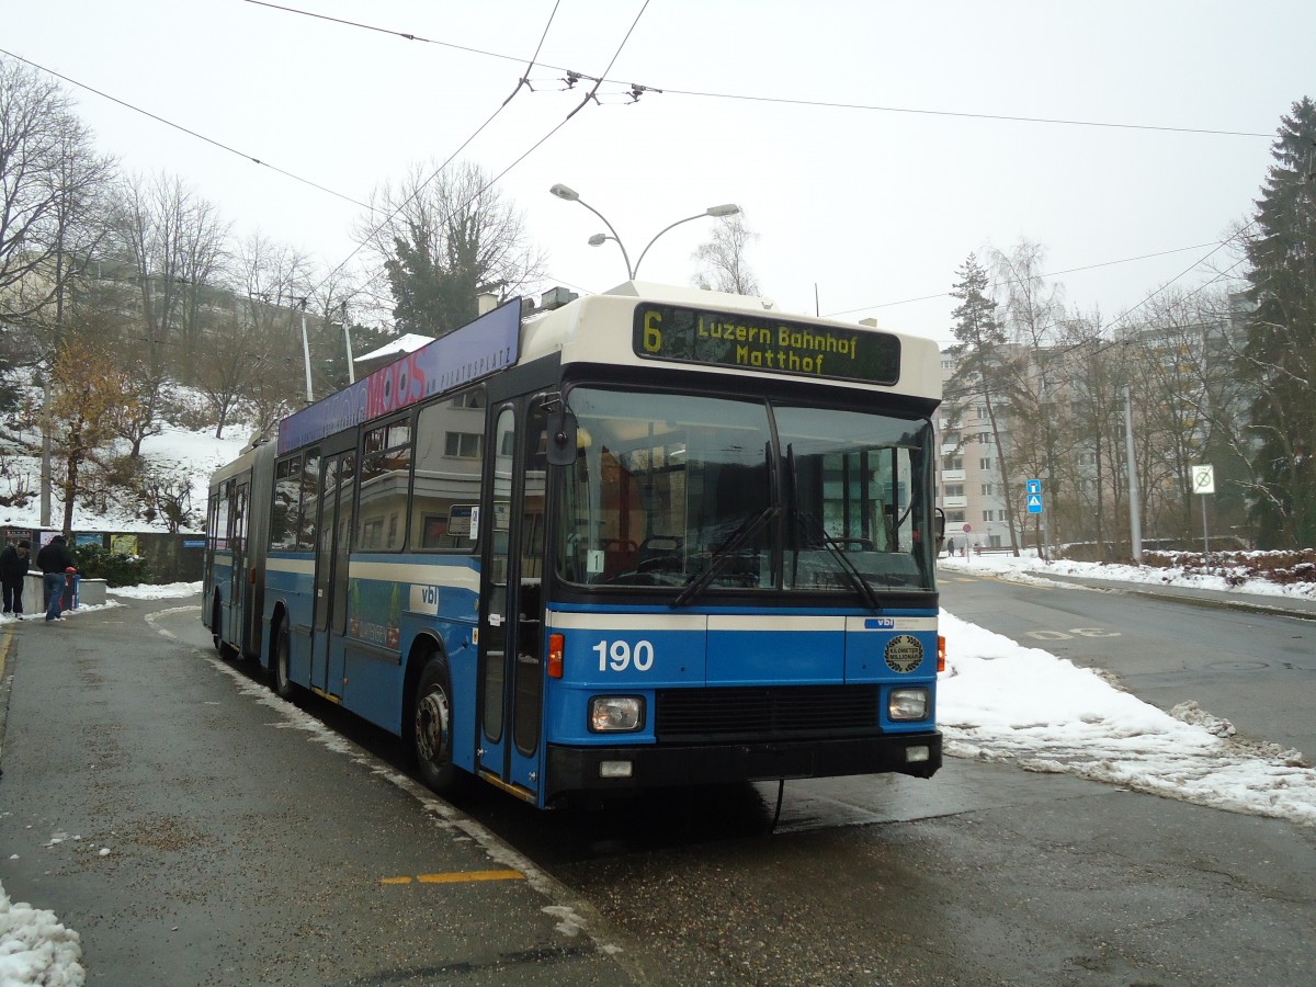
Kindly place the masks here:
<instances>
[{"instance_id":1,"label":"bus's middle side door, behind the front wheel and advert panel","mask_svg":"<svg viewBox=\"0 0 1316 987\"><path fill-rule=\"evenodd\" d=\"M320 533L316 542L316 597L312 619L311 688L342 695L342 636L347 615L347 547L351 529L355 454L322 461ZM336 646L337 645L337 646Z\"/></svg>"}]
</instances>

